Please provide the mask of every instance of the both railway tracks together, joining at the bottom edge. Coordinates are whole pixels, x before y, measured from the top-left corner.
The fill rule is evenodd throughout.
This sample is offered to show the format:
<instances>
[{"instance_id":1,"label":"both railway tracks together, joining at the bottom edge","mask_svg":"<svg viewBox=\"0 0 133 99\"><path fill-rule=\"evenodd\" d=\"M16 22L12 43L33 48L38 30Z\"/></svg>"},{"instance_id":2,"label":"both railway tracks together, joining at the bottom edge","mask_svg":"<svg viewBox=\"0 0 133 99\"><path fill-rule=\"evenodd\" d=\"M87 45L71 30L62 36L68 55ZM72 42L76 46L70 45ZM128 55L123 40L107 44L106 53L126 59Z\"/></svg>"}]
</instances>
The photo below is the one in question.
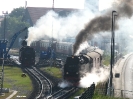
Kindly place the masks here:
<instances>
[{"instance_id":1,"label":"both railway tracks together, joining at the bottom edge","mask_svg":"<svg viewBox=\"0 0 133 99\"><path fill-rule=\"evenodd\" d=\"M25 71L34 77L39 86L34 99L68 99L78 90L78 88L71 87L52 92L51 82L36 67L25 68Z\"/></svg>"}]
</instances>

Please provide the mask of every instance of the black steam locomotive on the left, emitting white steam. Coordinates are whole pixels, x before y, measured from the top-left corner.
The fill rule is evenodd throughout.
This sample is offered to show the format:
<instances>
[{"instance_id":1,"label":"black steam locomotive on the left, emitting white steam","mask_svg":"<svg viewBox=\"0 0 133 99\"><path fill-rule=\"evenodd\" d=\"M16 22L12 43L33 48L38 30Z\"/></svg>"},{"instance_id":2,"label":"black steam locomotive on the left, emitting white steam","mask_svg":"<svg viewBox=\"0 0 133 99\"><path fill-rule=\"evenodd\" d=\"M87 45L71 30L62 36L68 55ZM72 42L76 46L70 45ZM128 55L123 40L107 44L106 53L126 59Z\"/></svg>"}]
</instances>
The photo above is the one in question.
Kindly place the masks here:
<instances>
[{"instance_id":1,"label":"black steam locomotive on the left, emitting white steam","mask_svg":"<svg viewBox=\"0 0 133 99\"><path fill-rule=\"evenodd\" d=\"M23 67L35 65L35 50L27 46L25 40L22 41L22 48L19 50L19 62Z\"/></svg>"}]
</instances>

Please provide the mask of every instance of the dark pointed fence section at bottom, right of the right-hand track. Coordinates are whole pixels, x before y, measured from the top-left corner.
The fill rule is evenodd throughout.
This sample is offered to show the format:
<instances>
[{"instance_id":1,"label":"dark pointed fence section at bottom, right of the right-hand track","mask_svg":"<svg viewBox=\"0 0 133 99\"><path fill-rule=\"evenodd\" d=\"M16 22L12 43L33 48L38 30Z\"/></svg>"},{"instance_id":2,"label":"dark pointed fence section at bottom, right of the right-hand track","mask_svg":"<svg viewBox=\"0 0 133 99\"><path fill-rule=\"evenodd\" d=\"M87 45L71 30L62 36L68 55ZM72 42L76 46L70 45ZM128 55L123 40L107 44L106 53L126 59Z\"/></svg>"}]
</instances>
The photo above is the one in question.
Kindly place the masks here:
<instances>
[{"instance_id":1,"label":"dark pointed fence section at bottom, right of the right-hand track","mask_svg":"<svg viewBox=\"0 0 133 99\"><path fill-rule=\"evenodd\" d=\"M93 83L88 89L82 93L82 95L79 97L79 99L92 99L94 95L95 90L95 84Z\"/></svg>"}]
</instances>

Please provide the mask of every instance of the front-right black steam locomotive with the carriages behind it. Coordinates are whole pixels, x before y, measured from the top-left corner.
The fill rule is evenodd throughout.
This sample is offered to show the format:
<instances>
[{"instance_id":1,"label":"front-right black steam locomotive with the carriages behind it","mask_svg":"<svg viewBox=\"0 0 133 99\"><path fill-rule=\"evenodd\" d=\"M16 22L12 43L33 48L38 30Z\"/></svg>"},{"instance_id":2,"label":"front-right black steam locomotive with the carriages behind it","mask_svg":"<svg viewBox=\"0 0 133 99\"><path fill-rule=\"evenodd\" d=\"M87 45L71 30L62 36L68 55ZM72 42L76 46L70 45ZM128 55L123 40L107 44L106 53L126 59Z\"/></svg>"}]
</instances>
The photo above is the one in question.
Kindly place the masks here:
<instances>
[{"instance_id":1,"label":"front-right black steam locomotive with the carriages behind it","mask_svg":"<svg viewBox=\"0 0 133 99\"><path fill-rule=\"evenodd\" d=\"M94 49L86 54L67 57L63 67L63 79L73 86L78 86L81 77L91 72L93 67L100 68L102 66L102 55L102 50Z\"/></svg>"}]
</instances>

